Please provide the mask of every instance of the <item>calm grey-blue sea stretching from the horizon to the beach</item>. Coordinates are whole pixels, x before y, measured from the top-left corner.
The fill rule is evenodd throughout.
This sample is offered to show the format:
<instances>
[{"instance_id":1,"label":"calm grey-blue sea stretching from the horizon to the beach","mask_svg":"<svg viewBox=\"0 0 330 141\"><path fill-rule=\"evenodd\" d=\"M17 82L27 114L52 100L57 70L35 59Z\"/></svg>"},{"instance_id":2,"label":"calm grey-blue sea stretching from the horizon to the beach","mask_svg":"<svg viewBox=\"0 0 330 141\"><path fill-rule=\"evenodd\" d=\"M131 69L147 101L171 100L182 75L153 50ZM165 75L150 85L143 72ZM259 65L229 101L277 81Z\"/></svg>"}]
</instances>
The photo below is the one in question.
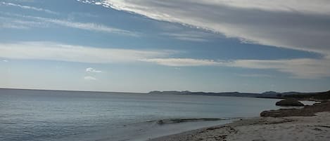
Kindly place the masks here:
<instances>
[{"instance_id":1,"label":"calm grey-blue sea stretching from the horizon to the beach","mask_svg":"<svg viewBox=\"0 0 330 141\"><path fill-rule=\"evenodd\" d=\"M158 124L160 119L258 116L277 100L0 89L0 140L147 140L224 121Z\"/></svg>"}]
</instances>

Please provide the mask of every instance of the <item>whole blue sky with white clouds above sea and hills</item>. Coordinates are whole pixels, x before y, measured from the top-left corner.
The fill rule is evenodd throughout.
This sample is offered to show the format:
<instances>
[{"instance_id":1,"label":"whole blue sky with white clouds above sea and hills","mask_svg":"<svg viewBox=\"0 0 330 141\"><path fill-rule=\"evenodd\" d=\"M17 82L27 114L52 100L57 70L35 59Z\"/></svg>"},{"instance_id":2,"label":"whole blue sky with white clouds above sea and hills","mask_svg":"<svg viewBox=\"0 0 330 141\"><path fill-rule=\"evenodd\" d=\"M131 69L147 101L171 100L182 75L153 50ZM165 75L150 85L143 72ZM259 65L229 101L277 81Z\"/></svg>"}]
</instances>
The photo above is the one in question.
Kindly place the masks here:
<instances>
[{"instance_id":1,"label":"whole blue sky with white clouds above sea and hills","mask_svg":"<svg viewBox=\"0 0 330 141\"><path fill-rule=\"evenodd\" d=\"M0 88L330 89L328 0L0 0Z\"/></svg>"}]
</instances>

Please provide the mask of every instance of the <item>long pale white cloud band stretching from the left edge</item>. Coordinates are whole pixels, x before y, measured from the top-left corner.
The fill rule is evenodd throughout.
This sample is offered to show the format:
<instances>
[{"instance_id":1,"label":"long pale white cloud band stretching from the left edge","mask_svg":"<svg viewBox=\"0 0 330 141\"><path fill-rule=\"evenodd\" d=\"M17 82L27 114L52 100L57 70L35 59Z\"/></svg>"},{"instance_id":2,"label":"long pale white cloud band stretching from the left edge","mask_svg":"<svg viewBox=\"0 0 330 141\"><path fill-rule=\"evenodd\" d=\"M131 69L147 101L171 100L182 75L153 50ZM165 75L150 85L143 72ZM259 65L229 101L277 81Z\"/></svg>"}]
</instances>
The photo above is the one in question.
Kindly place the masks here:
<instances>
[{"instance_id":1,"label":"long pale white cloud band stretching from the left edge","mask_svg":"<svg viewBox=\"0 0 330 141\"><path fill-rule=\"evenodd\" d=\"M164 57L169 53L167 51L72 46L51 42L0 43L0 57L11 59L111 63L134 62L141 59Z\"/></svg>"}]
</instances>

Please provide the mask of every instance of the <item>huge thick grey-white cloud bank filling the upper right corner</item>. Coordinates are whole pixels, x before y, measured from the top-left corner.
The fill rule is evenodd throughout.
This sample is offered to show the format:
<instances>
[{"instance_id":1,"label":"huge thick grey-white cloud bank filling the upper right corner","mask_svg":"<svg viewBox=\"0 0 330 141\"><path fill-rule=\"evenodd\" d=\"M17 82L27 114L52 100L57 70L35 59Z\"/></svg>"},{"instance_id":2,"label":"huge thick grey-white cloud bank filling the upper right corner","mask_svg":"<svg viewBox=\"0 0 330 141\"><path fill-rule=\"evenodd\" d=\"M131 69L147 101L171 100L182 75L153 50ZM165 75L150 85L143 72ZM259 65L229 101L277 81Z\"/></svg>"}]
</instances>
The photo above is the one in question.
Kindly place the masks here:
<instances>
[{"instance_id":1,"label":"huge thick grey-white cloud bank filling the upper right corner","mask_svg":"<svg viewBox=\"0 0 330 141\"><path fill-rule=\"evenodd\" d=\"M330 54L327 0L104 0L103 6L241 39Z\"/></svg>"}]
</instances>

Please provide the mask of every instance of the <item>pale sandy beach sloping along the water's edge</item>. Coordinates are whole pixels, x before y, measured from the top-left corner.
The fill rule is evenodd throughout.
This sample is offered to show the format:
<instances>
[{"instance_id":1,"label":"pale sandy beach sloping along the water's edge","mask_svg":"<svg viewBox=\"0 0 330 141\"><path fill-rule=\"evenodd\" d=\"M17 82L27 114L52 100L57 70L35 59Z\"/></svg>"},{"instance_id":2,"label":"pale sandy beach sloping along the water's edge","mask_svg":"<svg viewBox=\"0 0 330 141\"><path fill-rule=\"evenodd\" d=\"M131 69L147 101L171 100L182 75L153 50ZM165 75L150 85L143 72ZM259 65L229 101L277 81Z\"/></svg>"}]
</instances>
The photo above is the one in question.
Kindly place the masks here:
<instances>
[{"instance_id":1,"label":"pale sandy beach sloping along the water's edge","mask_svg":"<svg viewBox=\"0 0 330 141\"><path fill-rule=\"evenodd\" d=\"M317 116L253 118L152 141L330 141L330 112Z\"/></svg>"}]
</instances>

